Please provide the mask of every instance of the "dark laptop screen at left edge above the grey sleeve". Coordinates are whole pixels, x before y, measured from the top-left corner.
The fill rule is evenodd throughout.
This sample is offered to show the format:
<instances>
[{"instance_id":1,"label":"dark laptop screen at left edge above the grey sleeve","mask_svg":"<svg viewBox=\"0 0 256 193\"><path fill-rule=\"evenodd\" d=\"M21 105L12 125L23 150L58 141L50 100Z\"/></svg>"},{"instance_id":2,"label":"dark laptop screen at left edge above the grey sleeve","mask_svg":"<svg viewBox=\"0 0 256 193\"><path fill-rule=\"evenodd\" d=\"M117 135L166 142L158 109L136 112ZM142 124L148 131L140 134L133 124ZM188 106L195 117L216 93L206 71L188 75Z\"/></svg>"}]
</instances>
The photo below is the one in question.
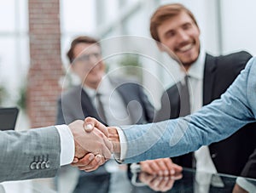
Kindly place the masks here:
<instances>
[{"instance_id":1,"label":"dark laptop screen at left edge above the grey sleeve","mask_svg":"<svg viewBox=\"0 0 256 193\"><path fill-rule=\"evenodd\" d=\"M0 130L15 130L18 113L16 107L0 108Z\"/></svg>"}]
</instances>

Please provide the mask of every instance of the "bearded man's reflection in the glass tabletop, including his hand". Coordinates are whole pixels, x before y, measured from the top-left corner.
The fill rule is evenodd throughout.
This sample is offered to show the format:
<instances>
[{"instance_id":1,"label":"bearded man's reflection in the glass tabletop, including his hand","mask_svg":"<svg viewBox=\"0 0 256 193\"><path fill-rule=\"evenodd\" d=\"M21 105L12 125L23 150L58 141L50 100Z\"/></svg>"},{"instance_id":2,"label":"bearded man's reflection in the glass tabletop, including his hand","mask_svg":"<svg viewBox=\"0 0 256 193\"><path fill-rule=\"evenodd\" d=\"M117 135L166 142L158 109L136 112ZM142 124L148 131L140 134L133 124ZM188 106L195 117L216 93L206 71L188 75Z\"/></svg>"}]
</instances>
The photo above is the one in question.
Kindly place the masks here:
<instances>
[{"instance_id":1,"label":"bearded man's reflection in the glass tabletop, including his hand","mask_svg":"<svg viewBox=\"0 0 256 193\"><path fill-rule=\"evenodd\" d=\"M194 169L183 168L182 173L162 177L147 173L133 173L131 184L134 192L256 192L256 180L226 174L195 172ZM239 189L234 189L235 184Z\"/></svg>"}]
</instances>

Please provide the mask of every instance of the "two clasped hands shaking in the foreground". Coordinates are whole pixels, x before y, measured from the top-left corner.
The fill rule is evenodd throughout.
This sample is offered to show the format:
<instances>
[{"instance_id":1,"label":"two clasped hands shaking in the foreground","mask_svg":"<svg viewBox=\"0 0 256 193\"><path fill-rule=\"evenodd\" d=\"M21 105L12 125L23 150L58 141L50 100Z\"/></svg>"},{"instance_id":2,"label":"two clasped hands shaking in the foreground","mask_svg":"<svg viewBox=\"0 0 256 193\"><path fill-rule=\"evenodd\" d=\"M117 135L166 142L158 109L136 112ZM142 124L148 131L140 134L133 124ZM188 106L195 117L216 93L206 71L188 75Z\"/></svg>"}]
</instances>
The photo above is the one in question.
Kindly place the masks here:
<instances>
[{"instance_id":1,"label":"two clasped hands shaking in the foreground","mask_svg":"<svg viewBox=\"0 0 256 193\"><path fill-rule=\"evenodd\" d=\"M75 155L72 166L91 172L107 162L112 153L120 152L116 128L106 127L95 118L87 117L68 125L73 133Z\"/></svg>"}]
</instances>

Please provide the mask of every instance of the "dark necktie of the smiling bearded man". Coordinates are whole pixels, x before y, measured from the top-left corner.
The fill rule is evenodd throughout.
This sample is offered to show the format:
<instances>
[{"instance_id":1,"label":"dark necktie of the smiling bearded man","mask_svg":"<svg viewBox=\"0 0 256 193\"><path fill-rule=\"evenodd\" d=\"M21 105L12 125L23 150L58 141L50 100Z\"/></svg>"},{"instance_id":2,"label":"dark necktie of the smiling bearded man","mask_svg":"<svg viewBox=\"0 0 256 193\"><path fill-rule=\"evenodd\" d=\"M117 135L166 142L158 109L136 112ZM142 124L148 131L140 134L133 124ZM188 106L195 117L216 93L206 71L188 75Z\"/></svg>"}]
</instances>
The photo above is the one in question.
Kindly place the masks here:
<instances>
[{"instance_id":1,"label":"dark necktie of the smiling bearded man","mask_svg":"<svg viewBox=\"0 0 256 193\"><path fill-rule=\"evenodd\" d=\"M189 101L189 76L184 77L184 84L180 83L180 116L187 116L190 114L190 101Z\"/></svg>"}]
</instances>

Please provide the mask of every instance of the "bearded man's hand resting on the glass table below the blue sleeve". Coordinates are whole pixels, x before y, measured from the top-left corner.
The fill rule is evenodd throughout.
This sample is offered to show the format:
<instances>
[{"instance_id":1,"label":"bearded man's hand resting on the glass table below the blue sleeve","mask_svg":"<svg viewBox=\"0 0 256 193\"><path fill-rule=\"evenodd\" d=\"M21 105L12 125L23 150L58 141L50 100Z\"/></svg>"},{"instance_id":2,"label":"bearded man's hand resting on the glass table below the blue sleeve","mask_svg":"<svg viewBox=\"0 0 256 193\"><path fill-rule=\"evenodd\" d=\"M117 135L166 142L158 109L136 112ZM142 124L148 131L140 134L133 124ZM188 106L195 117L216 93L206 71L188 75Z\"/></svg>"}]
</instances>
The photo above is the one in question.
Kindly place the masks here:
<instances>
[{"instance_id":1,"label":"bearded man's hand resting on the glass table below the blue sleeve","mask_svg":"<svg viewBox=\"0 0 256 193\"><path fill-rule=\"evenodd\" d=\"M140 165L143 172L159 176L169 176L175 173L181 173L183 170L183 167L173 163L170 158L147 160L140 162Z\"/></svg>"}]
</instances>

